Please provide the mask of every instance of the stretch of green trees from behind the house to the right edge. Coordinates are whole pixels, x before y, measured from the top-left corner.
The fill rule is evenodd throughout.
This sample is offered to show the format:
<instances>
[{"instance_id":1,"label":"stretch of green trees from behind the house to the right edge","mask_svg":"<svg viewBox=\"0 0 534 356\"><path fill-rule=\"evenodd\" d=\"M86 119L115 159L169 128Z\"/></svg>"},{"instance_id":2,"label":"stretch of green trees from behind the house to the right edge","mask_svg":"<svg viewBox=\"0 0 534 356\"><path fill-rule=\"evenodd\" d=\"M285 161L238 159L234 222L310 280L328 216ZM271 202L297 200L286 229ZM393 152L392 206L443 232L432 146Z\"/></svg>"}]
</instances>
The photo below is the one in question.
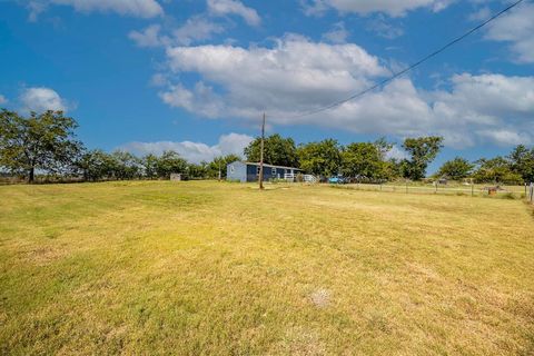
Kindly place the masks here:
<instances>
[{"instance_id":1,"label":"stretch of green trees from behind the house to the right edge","mask_svg":"<svg viewBox=\"0 0 534 356\"><path fill-rule=\"evenodd\" d=\"M260 139L256 138L245 149L248 160L259 160L259 146ZM428 165L443 148L443 138L429 136L405 139L402 147L408 157L404 159L388 155L393 147L383 138L375 142L353 142L347 146L335 139L296 145L291 138L273 135L265 140L265 161L298 167L318 177L343 175L367 181L421 180L426 177ZM534 181L534 148L518 145L505 157L481 158L474 162L456 157L443 164L433 178L528 184Z\"/></svg>"}]
</instances>

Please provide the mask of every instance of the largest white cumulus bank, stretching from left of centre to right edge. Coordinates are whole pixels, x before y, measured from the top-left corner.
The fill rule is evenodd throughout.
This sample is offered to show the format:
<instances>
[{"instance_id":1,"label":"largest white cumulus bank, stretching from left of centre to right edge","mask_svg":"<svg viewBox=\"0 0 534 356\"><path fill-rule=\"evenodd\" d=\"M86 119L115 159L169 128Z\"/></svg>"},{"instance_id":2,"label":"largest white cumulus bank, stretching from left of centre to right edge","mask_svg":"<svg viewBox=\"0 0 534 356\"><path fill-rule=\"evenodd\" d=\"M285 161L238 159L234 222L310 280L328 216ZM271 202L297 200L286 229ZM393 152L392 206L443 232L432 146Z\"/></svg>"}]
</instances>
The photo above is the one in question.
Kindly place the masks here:
<instances>
[{"instance_id":1,"label":"largest white cumulus bank, stretching from left of centre to right edge","mask_svg":"<svg viewBox=\"0 0 534 356\"><path fill-rule=\"evenodd\" d=\"M312 42L298 36L287 36L271 48L171 47L167 57L171 75L195 73L200 80L191 87L167 86L162 100L208 118L256 120L267 111L273 125L400 138L443 135L454 147L531 140L530 134L521 132L532 131L527 127L534 118L534 77L463 73L447 80L448 90L434 91L403 78L332 110L300 116L368 88L388 69L356 44Z\"/></svg>"}]
</instances>

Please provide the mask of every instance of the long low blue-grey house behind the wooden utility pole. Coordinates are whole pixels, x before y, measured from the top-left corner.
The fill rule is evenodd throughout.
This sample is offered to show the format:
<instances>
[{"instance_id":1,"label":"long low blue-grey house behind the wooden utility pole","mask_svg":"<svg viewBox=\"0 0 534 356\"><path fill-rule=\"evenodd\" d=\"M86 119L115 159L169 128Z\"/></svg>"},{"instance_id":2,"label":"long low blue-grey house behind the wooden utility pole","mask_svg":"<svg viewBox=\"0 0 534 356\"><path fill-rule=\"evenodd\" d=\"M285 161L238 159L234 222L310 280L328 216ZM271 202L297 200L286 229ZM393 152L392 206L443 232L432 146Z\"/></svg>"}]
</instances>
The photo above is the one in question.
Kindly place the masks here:
<instances>
[{"instance_id":1,"label":"long low blue-grey house behind the wooden utility pole","mask_svg":"<svg viewBox=\"0 0 534 356\"><path fill-rule=\"evenodd\" d=\"M264 164L264 180L287 179L295 180L295 176L301 172L295 167L271 166ZM259 164L235 161L227 166L226 179L230 181L258 181Z\"/></svg>"}]
</instances>

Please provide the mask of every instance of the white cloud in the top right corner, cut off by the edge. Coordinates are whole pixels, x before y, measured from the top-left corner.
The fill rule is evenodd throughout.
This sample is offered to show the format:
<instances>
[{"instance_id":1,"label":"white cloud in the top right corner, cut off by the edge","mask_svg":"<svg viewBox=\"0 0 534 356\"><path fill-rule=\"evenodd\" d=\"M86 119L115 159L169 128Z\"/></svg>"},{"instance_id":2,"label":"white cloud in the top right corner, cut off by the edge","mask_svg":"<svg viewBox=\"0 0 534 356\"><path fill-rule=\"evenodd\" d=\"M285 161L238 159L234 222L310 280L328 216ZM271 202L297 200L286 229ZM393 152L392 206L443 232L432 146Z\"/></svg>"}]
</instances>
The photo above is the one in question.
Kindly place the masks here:
<instances>
[{"instance_id":1,"label":"white cloud in the top right corner, cut off by the edge","mask_svg":"<svg viewBox=\"0 0 534 356\"><path fill-rule=\"evenodd\" d=\"M534 63L534 4L525 2L490 24L486 38L510 42L514 60Z\"/></svg>"}]
</instances>

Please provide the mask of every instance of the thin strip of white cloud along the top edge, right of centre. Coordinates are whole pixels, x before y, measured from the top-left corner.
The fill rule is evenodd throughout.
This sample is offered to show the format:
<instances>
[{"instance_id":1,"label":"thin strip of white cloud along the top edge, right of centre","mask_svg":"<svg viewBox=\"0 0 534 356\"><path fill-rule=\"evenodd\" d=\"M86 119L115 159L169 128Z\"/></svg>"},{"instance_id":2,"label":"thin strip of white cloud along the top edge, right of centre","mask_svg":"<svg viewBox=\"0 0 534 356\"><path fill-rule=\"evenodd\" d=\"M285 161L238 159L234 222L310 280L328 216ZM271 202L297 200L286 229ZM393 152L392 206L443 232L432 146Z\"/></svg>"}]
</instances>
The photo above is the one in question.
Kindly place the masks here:
<instances>
[{"instance_id":1,"label":"thin strip of white cloud along the top edge, right of centre","mask_svg":"<svg viewBox=\"0 0 534 356\"><path fill-rule=\"evenodd\" d=\"M454 0L300 0L304 11L308 16L320 16L333 8L342 13L355 12L368 14L383 12L390 17L405 16L407 11L418 8L429 8L437 12L446 8Z\"/></svg>"}]
</instances>

